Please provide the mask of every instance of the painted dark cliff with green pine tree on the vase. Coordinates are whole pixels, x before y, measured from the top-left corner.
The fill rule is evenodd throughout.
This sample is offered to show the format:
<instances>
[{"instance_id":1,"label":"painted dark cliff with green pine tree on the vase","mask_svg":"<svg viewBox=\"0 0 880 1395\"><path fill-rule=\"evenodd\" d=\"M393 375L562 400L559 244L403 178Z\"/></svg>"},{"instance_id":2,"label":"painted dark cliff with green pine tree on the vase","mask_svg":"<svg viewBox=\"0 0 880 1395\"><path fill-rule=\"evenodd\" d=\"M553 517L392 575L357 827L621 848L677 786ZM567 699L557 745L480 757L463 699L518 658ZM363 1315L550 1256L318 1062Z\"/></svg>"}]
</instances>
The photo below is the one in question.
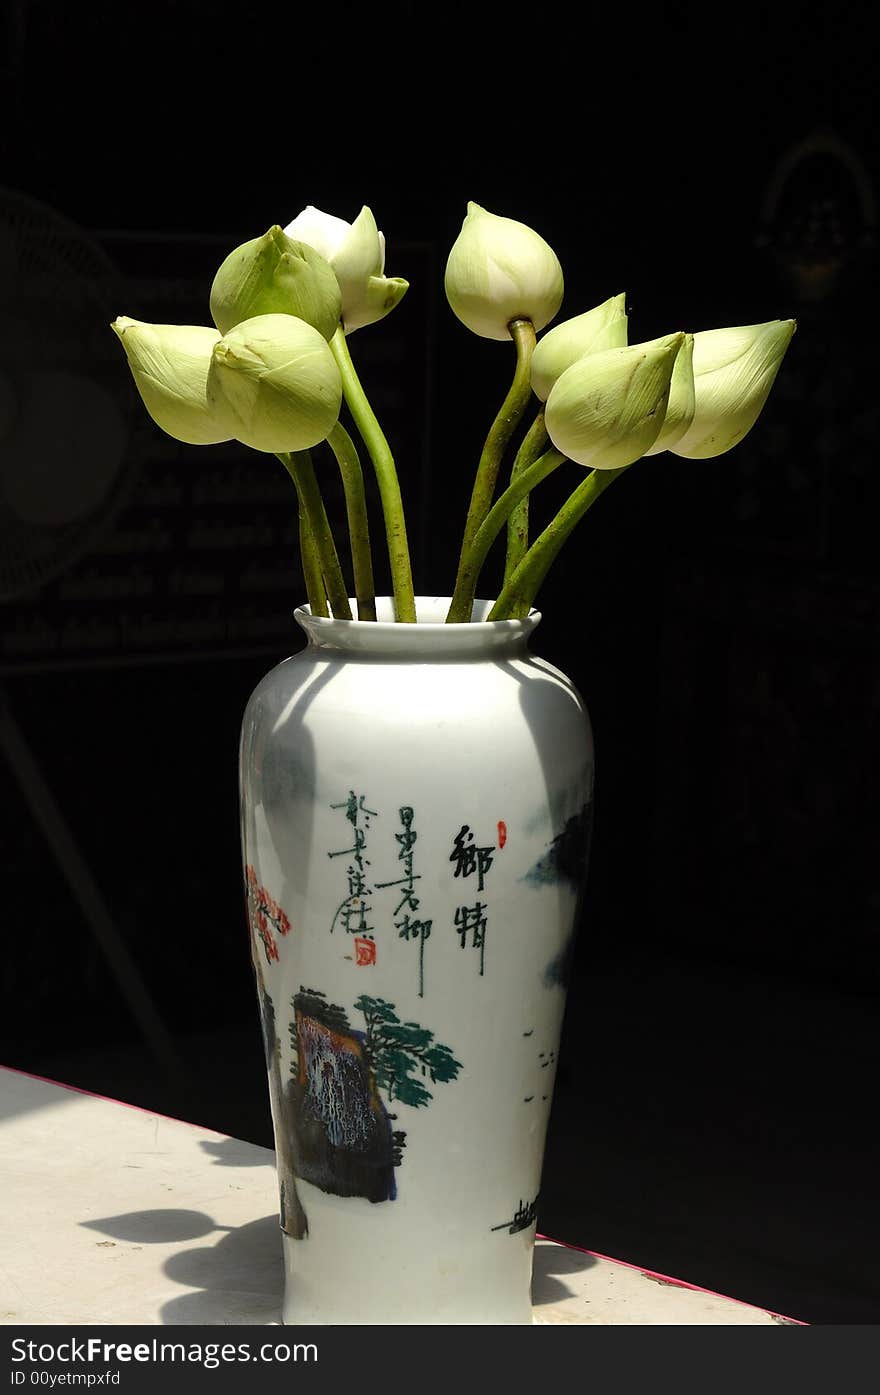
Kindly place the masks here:
<instances>
[{"instance_id":1,"label":"painted dark cliff with green pine tree on the vase","mask_svg":"<svg viewBox=\"0 0 880 1395\"><path fill-rule=\"evenodd\" d=\"M396 1115L379 1091L417 1109L432 1099L424 1077L450 1081L462 1067L431 1031L402 1023L393 1003L361 995L354 1007L364 1031L317 989L293 997L286 1102L296 1175L333 1196L393 1201L406 1134L392 1129Z\"/></svg>"}]
</instances>

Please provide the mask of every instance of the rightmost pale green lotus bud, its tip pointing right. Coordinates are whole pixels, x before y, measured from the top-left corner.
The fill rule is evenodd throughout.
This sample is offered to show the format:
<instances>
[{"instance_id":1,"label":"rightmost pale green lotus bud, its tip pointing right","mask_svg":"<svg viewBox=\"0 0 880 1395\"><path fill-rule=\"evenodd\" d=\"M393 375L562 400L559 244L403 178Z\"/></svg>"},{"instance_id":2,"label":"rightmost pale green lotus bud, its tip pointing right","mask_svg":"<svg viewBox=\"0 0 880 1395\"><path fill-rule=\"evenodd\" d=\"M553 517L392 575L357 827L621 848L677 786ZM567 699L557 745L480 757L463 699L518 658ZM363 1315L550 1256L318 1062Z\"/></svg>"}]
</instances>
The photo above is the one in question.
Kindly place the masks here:
<instances>
[{"instance_id":1,"label":"rightmost pale green lotus bud, its tip pointing right","mask_svg":"<svg viewBox=\"0 0 880 1395\"><path fill-rule=\"evenodd\" d=\"M693 421L668 449L707 460L738 445L760 416L795 328L794 319L770 319L695 335Z\"/></svg>"}]
</instances>

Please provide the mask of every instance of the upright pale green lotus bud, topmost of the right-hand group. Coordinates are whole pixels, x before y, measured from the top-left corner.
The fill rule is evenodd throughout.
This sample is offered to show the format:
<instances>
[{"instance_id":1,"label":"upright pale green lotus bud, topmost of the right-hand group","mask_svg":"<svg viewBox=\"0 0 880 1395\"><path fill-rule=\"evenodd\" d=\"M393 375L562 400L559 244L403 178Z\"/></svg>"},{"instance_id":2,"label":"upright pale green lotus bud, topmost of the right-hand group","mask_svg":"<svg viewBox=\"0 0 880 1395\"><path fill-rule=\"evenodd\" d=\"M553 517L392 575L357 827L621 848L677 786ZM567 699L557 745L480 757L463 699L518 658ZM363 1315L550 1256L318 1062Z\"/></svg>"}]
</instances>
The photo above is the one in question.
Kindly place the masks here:
<instances>
[{"instance_id":1,"label":"upright pale green lotus bud, topmost of the right-hand group","mask_svg":"<svg viewBox=\"0 0 880 1395\"><path fill-rule=\"evenodd\" d=\"M554 318L562 304L562 266L531 227L469 204L445 286L462 324L483 339L509 339L512 319L543 329Z\"/></svg>"}]
</instances>

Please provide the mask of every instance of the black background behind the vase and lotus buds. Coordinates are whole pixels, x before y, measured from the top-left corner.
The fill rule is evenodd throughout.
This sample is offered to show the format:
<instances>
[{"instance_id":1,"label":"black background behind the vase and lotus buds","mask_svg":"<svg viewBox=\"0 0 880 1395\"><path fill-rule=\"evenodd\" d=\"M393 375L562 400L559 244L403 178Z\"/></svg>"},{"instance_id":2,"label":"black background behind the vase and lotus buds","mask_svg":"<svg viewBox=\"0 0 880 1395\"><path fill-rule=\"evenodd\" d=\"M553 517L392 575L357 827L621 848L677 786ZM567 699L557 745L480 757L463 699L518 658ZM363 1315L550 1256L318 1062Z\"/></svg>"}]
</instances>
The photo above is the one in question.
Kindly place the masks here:
<instances>
[{"instance_id":1,"label":"black background behind the vase and lotus buds","mask_svg":"<svg viewBox=\"0 0 880 1395\"><path fill-rule=\"evenodd\" d=\"M49 314L42 286L26 333L6 321L0 365L21 368L77 317L79 367L92 356L131 445L113 516L45 583L15 573L4 590L4 633L32 636L6 647L1 678L6 1063L269 1143L236 744L250 691L298 644L298 579L278 579L289 505L268 476L262 501L247 481L245 498L232 448L158 441L95 328L120 312L205 321L238 241L305 204L344 218L370 204L388 271L413 290L351 347L397 448L417 583L448 591L512 367L442 294L474 198L554 246L563 315L626 290L633 342L799 322L753 437L715 462L636 467L541 596L534 649L587 700L598 790L538 1226L809 1321L877 1321L869 15L13 0L3 216L40 205L26 204L31 239L40 219L54 239L68 220L93 294L77 308L57 293ZM6 293L21 308L26 278ZM227 550L215 608L198 612L213 640L177 625L153 642L130 607L119 642L100 650L73 625L60 647L64 624L117 610L86 615L71 579L103 575L106 538L156 512L146 478L172 487L180 472L183 499L159 509L170 597L215 466L244 492L211 520L269 516L275 582L243 608ZM126 565L117 552L114 575ZM170 1036L170 1076L109 968L102 907Z\"/></svg>"}]
</instances>

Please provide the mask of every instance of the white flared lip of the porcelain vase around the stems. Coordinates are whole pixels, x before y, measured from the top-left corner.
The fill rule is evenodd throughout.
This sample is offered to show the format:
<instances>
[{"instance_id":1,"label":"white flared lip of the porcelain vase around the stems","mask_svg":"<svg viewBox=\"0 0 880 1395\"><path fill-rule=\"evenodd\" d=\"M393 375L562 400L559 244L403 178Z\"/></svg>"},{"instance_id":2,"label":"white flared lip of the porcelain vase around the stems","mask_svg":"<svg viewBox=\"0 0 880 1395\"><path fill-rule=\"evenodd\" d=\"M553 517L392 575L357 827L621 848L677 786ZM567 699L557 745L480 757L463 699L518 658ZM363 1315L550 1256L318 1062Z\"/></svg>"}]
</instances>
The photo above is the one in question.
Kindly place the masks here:
<instances>
[{"instance_id":1,"label":"white flared lip of the porcelain vase around the stems","mask_svg":"<svg viewBox=\"0 0 880 1395\"><path fill-rule=\"evenodd\" d=\"M524 649L541 621L530 610L524 619L485 619L494 601L476 600L470 621L446 624L450 596L417 596L414 625L395 621L392 596L377 596L377 619L332 619L312 615L310 605L298 605L293 618L305 631L310 644L318 649L343 649L361 654L399 654L400 657L453 658L480 657L505 650ZM351 610L357 601L350 597Z\"/></svg>"}]
</instances>

